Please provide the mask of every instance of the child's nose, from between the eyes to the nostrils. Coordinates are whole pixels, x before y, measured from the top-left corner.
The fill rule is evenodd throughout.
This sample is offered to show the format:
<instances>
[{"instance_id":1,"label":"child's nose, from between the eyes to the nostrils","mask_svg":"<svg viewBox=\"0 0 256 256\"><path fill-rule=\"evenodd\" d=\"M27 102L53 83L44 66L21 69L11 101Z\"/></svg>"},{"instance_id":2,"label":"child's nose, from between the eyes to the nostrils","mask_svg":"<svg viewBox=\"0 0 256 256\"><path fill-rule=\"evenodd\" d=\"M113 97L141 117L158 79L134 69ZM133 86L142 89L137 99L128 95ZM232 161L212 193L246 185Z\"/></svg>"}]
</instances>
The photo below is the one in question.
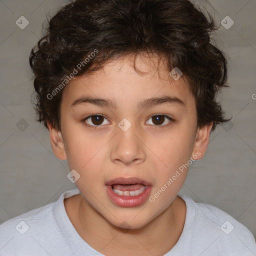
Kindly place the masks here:
<instances>
[{"instance_id":1,"label":"child's nose, from between the eyes to the nostrils","mask_svg":"<svg viewBox=\"0 0 256 256\"><path fill-rule=\"evenodd\" d=\"M111 161L127 166L142 163L145 160L145 145L135 125L126 131L117 126L116 132L110 153Z\"/></svg>"}]
</instances>

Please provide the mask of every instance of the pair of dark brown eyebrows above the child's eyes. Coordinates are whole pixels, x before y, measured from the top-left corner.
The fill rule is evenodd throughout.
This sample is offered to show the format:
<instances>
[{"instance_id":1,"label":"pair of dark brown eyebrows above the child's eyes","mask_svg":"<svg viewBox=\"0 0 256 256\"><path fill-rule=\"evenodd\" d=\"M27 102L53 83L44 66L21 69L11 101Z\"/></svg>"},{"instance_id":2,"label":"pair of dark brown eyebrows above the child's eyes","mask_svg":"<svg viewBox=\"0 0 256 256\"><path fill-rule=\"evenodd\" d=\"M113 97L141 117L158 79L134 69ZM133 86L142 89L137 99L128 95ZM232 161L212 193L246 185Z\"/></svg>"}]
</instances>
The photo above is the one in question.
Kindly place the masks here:
<instances>
[{"instance_id":1,"label":"pair of dark brown eyebrows above the child's eyes","mask_svg":"<svg viewBox=\"0 0 256 256\"><path fill-rule=\"evenodd\" d=\"M106 99L106 98L96 98L96 97L91 97L91 96L79 97L73 101L71 106L75 106L75 105L82 104L82 103L91 103L91 104L98 105L98 106L112 107L114 109L117 108L115 101L112 101L112 100ZM144 99L144 100L138 102L137 108L152 107L152 106L163 104L163 103L177 104L179 106L186 108L186 104L180 98L167 96L167 95L161 96L161 97L153 97L153 98Z\"/></svg>"}]
</instances>

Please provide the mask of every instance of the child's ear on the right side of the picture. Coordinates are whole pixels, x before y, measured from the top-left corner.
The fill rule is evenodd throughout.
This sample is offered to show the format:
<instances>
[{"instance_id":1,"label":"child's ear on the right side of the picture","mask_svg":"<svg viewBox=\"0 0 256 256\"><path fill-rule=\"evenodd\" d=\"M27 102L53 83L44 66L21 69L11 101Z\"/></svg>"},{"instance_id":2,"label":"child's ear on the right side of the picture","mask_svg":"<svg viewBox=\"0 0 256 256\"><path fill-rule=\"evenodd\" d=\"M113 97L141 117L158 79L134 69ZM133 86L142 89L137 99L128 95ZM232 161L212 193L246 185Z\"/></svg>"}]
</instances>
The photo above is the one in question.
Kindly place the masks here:
<instances>
[{"instance_id":1,"label":"child's ear on the right side of the picture","mask_svg":"<svg viewBox=\"0 0 256 256\"><path fill-rule=\"evenodd\" d=\"M196 160L203 157L209 143L212 124L213 122L197 129L191 158L193 158L193 155L197 156Z\"/></svg>"}]
</instances>

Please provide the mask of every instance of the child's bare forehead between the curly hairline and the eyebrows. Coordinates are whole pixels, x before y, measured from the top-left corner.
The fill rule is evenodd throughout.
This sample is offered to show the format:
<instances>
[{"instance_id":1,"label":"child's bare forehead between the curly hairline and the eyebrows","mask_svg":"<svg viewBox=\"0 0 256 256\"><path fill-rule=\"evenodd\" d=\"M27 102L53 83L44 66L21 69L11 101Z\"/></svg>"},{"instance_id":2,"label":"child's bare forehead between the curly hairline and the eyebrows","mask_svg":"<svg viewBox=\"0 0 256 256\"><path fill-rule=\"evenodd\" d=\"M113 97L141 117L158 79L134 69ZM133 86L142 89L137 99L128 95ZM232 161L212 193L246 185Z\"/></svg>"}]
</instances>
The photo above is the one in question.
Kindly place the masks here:
<instances>
[{"instance_id":1,"label":"child's bare forehead between the curly hairline and the eyebrows","mask_svg":"<svg viewBox=\"0 0 256 256\"><path fill-rule=\"evenodd\" d=\"M131 107L134 101L168 95L188 106L194 103L186 77L175 81L163 60L141 55L133 60L133 55L122 56L97 71L73 78L64 88L62 102L72 105L81 96L91 96L110 99L115 106L132 99Z\"/></svg>"}]
</instances>

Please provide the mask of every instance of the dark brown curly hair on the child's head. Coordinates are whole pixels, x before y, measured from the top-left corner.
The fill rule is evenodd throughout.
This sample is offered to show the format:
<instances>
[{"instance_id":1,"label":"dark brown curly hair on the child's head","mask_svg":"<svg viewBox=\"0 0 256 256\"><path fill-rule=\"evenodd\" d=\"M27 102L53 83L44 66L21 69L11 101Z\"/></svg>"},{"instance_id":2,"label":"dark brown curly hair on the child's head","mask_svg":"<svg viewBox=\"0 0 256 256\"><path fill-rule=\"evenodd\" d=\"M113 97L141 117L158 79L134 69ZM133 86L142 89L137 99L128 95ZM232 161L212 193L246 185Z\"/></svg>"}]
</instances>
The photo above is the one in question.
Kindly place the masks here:
<instances>
[{"instance_id":1,"label":"dark brown curly hair on the child's head","mask_svg":"<svg viewBox=\"0 0 256 256\"><path fill-rule=\"evenodd\" d=\"M147 52L178 67L195 97L197 127L226 122L216 94L225 84L227 62L213 45L213 18L188 0L75 0L50 18L46 34L29 56L36 91L37 121L60 130L63 80L98 70L114 58ZM91 52L88 63L84 62ZM79 66L79 72L77 64ZM135 66L134 66L135 68ZM135 68L136 70L136 68ZM62 86L61 86L62 82ZM57 86L59 89L57 90ZM54 92L54 96L47 95Z\"/></svg>"}]
</instances>

